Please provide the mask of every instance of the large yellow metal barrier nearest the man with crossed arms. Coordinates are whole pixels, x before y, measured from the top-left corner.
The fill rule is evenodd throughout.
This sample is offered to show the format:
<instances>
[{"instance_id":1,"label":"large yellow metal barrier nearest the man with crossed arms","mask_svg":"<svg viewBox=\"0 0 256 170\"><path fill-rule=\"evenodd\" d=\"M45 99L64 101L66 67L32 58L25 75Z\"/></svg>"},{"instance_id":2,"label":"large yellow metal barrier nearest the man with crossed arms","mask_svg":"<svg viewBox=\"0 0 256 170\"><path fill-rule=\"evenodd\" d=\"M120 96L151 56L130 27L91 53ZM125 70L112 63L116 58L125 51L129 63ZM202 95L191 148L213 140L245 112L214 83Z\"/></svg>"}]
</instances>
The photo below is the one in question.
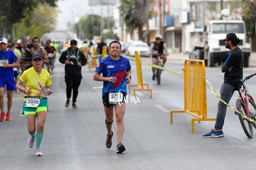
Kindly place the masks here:
<instances>
[{"instance_id":1,"label":"large yellow metal barrier nearest the man with crossed arms","mask_svg":"<svg viewBox=\"0 0 256 170\"><path fill-rule=\"evenodd\" d=\"M171 124L173 113L187 113L194 117L191 119L194 132L194 121L215 121L215 118L207 118L207 94L205 79L205 61L186 59L184 64L184 111L171 111Z\"/></svg>"}]
</instances>

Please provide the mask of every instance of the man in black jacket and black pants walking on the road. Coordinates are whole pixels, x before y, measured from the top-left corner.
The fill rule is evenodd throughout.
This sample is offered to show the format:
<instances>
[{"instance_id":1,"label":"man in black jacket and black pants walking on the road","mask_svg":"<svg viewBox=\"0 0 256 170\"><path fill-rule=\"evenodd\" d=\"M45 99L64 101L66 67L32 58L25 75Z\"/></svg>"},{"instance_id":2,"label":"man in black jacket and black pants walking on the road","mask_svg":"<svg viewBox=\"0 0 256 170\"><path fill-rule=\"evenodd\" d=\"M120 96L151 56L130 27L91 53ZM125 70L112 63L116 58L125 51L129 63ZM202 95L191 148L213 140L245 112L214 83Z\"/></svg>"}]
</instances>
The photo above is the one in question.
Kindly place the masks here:
<instances>
[{"instance_id":1,"label":"man in black jacket and black pants walking on the road","mask_svg":"<svg viewBox=\"0 0 256 170\"><path fill-rule=\"evenodd\" d=\"M82 51L77 48L77 41L71 40L70 47L61 54L59 62L65 64L65 82L66 82L66 108L69 107L71 92L73 88L72 107L77 109L75 102L77 101L78 89L82 80L81 66L85 66L87 59Z\"/></svg>"}]
</instances>

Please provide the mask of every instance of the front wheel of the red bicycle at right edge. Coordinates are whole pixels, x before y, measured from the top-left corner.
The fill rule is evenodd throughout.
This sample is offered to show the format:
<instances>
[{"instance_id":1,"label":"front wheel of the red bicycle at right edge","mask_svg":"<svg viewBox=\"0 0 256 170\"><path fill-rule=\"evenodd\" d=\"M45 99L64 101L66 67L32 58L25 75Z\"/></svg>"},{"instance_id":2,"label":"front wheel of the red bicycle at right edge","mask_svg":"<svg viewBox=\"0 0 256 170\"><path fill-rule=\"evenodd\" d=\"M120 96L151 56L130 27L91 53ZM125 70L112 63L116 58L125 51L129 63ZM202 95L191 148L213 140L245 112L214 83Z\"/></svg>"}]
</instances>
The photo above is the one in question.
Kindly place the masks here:
<instances>
[{"instance_id":1,"label":"front wheel of the red bicycle at right edge","mask_svg":"<svg viewBox=\"0 0 256 170\"><path fill-rule=\"evenodd\" d=\"M243 115L248 116L248 114L244 107L244 103L241 101L241 99L236 100L236 109L237 111L240 111L242 113L242 114L238 114L238 117L242 125L242 129L244 129L245 135L247 135L248 138L252 138L252 136L254 135L254 132L252 130L252 122L248 121L243 116Z\"/></svg>"}]
</instances>

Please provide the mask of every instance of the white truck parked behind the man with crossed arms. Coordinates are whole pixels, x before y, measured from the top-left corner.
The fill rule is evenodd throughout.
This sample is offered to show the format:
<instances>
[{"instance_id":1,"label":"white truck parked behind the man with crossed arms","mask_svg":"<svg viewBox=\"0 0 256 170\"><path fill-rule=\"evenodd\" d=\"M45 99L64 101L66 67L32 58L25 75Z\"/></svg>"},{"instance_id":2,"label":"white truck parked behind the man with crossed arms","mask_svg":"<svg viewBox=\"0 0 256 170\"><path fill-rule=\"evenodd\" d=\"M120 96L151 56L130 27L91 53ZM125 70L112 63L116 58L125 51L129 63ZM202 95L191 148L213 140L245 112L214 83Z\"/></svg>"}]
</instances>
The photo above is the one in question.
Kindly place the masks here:
<instances>
[{"instance_id":1,"label":"white truck parked behind the man with crossed arms","mask_svg":"<svg viewBox=\"0 0 256 170\"><path fill-rule=\"evenodd\" d=\"M245 24L242 20L211 20L208 22L205 35L205 46L201 54L205 65L213 67L216 63L221 64L228 57L230 52L224 45L224 38L227 33L236 33L239 37L239 48L244 53L244 67L249 66L250 44L246 41Z\"/></svg>"}]
</instances>

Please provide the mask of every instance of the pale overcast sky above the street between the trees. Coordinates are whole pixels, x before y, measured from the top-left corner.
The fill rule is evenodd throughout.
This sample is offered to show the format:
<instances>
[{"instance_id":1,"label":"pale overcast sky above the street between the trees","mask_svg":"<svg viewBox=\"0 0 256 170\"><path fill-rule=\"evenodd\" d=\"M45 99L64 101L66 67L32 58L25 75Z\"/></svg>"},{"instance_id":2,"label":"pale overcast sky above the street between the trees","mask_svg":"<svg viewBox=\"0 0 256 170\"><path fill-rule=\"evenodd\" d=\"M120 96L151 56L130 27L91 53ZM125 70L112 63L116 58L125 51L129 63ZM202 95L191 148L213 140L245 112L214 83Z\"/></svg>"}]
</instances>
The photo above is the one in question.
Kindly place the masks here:
<instances>
[{"instance_id":1,"label":"pale overcast sky above the street between the trees","mask_svg":"<svg viewBox=\"0 0 256 170\"><path fill-rule=\"evenodd\" d=\"M83 15L112 15L113 11L111 6L88 6L88 0L59 0L57 5L59 12L56 29L65 29L67 22L77 22Z\"/></svg>"}]
</instances>

